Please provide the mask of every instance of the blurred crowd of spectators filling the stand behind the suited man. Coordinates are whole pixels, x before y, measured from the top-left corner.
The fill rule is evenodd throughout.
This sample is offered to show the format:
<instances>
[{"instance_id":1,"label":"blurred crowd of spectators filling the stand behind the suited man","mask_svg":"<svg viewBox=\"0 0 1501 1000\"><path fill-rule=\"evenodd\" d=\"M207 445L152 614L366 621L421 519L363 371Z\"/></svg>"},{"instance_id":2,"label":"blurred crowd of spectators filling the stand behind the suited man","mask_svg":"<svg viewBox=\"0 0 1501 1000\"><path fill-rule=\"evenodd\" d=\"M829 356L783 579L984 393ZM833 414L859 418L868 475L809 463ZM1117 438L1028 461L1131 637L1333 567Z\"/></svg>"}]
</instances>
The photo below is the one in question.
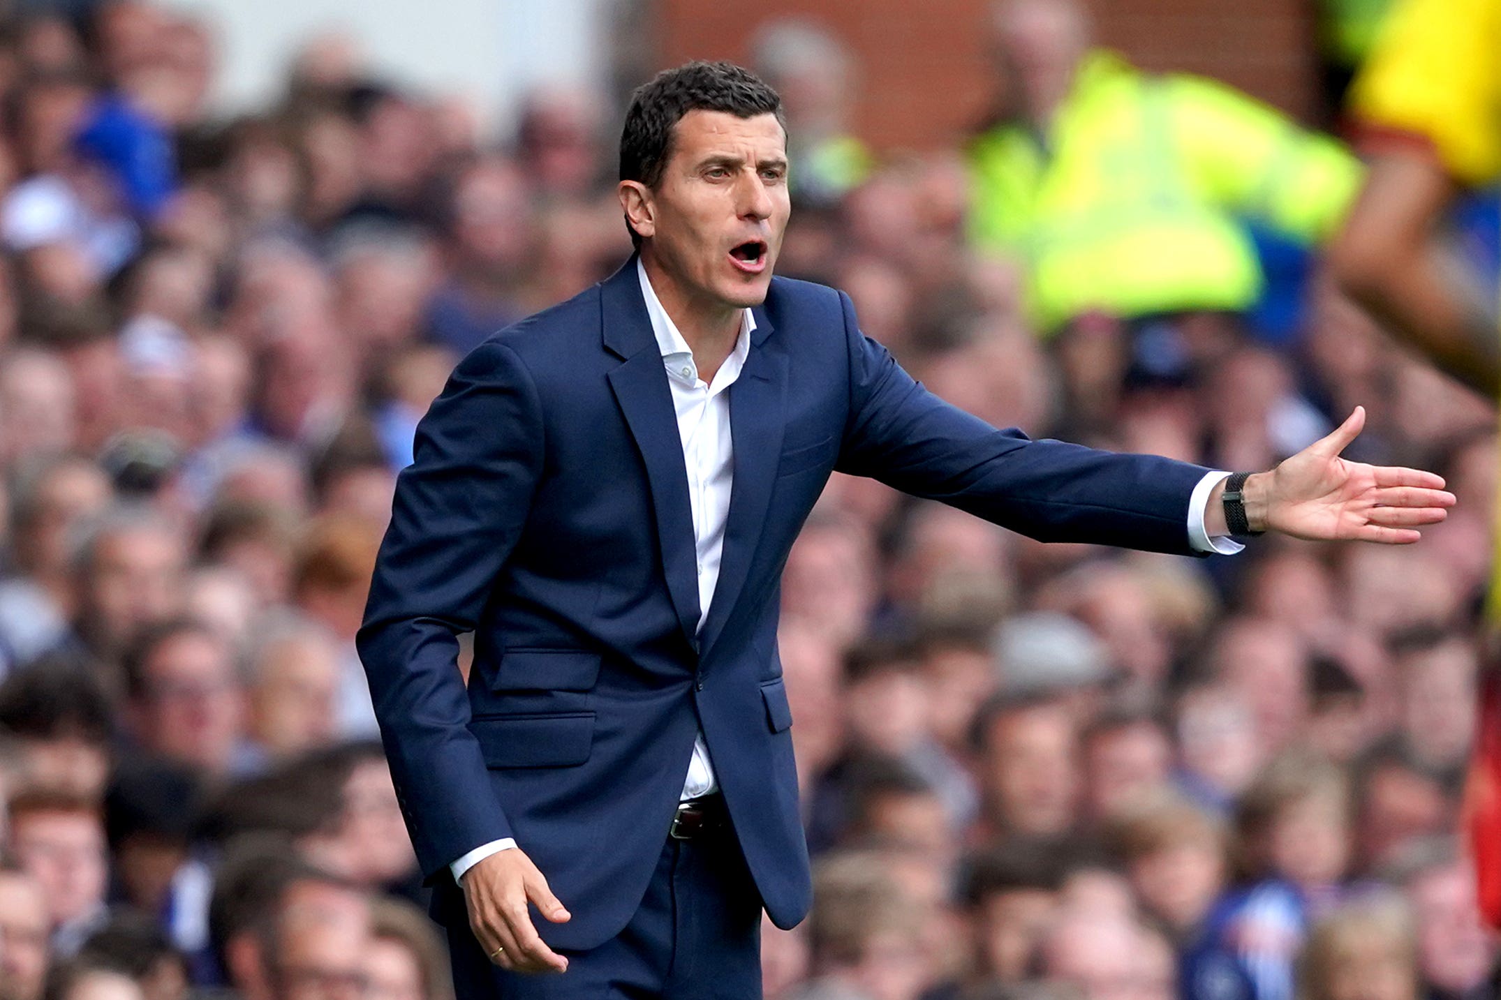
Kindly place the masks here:
<instances>
[{"instance_id":1,"label":"blurred crowd of spectators filling the stand behind the suited man","mask_svg":"<svg viewBox=\"0 0 1501 1000\"><path fill-rule=\"evenodd\" d=\"M1493 996L1454 838L1492 408L1324 277L1336 139L1069 0L994 30L989 120L898 156L839 39L757 34L778 271L997 426L1265 469L1358 403L1351 457L1459 507L1195 561L836 474L782 588L817 897L767 996ZM215 46L141 0L0 21L0 1000L447 1000L353 639L452 366L629 255L615 115L491 136L327 36L224 120Z\"/></svg>"}]
</instances>

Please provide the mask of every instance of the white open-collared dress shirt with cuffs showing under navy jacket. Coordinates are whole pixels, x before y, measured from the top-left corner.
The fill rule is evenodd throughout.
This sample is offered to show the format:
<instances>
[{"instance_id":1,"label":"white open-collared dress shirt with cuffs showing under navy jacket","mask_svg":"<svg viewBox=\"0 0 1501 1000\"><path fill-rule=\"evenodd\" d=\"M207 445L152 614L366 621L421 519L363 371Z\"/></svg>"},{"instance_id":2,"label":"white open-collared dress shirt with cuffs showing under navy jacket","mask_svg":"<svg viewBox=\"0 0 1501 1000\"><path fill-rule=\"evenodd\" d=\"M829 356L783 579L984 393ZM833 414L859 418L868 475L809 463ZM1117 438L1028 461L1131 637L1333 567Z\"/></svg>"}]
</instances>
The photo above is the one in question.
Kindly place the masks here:
<instances>
[{"instance_id":1,"label":"white open-collared dress shirt with cuffs showing under navy jacket","mask_svg":"<svg viewBox=\"0 0 1501 1000\"><path fill-rule=\"evenodd\" d=\"M704 615L714 597L719 582L719 556L725 546L725 520L729 516L729 487L734 475L734 441L729 438L728 390L740 378L746 357L750 354L750 331L755 316L746 309L741 315L740 337L725 363L714 372L714 379L705 384L698 378L693 351L666 315L657 298L647 270L636 261L636 276L641 279L641 297L651 318L651 333L656 334L662 363L666 366L666 381L672 387L672 406L677 411L677 432L683 441L683 466L687 472L687 496L693 514L693 549L698 555L698 627L704 627ZM1193 489L1189 498L1189 544L1198 552L1234 555L1243 546L1232 538L1211 538L1204 528L1204 510L1214 486L1229 472L1210 472ZM693 741L693 754L687 762L687 777L683 781L681 799L696 799L719 790L714 766L708 759L708 745L699 732ZM491 855L515 847L510 837L482 844L468 852L450 867L455 879Z\"/></svg>"}]
</instances>

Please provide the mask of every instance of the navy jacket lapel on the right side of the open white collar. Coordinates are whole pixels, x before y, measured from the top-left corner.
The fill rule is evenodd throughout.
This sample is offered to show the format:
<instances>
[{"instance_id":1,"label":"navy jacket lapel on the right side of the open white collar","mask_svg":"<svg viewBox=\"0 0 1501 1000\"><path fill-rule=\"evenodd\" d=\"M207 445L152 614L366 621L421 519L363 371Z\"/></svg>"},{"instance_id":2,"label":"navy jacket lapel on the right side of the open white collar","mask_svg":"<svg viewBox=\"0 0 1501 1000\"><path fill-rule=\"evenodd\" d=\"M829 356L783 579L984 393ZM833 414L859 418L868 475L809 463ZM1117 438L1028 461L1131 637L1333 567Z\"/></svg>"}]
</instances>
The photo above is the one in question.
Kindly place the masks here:
<instances>
[{"instance_id":1,"label":"navy jacket lapel on the right side of the open white collar","mask_svg":"<svg viewBox=\"0 0 1501 1000\"><path fill-rule=\"evenodd\" d=\"M708 616L704 619L701 655L708 655L744 589L750 561L761 541L766 511L772 502L776 465L782 457L788 360L779 339L770 337L772 324L766 312L757 309L755 319L750 354L740 378L728 390L734 483L729 492L729 516L725 520L719 580L714 585Z\"/></svg>"}]
</instances>

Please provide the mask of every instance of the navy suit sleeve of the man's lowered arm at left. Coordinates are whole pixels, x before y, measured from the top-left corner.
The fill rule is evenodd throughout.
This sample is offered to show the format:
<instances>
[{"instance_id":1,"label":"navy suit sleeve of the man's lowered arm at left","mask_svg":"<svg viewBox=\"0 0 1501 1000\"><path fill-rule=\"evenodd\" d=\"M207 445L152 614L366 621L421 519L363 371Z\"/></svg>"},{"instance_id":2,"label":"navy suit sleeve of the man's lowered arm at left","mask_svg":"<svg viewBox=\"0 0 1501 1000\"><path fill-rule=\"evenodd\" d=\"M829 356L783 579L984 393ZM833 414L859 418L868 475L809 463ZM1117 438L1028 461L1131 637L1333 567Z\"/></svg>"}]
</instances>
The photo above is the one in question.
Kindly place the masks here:
<instances>
[{"instance_id":1,"label":"navy suit sleeve of the man's lowered arm at left","mask_svg":"<svg viewBox=\"0 0 1501 1000\"><path fill-rule=\"evenodd\" d=\"M458 636L471 631L531 508L542 406L515 351L489 342L417 424L356 637L381 741L428 879L512 837L470 733Z\"/></svg>"}]
</instances>

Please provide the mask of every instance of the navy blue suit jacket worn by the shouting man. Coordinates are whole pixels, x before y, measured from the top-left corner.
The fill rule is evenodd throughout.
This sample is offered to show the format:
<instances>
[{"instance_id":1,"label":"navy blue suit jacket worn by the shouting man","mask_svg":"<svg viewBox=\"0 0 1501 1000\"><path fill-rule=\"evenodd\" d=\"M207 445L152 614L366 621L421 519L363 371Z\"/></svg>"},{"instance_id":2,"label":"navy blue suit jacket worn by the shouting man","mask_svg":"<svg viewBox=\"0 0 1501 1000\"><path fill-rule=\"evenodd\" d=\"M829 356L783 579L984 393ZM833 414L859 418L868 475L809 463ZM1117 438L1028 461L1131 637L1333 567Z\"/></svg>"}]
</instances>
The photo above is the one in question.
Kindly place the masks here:
<instances>
[{"instance_id":1,"label":"navy blue suit jacket worn by the shouting man","mask_svg":"<svg viewBox=\"0 0 1501 1000\"><path fill-rule=\"evenodd\" d=\"M545 940L617 934L699 727L767 912L806 915L778 591L835 469L1036 538L1189 552L1205 469L997 430L914 382L821 285L773 279L755 321L701 631L677 417L633 261L476 348L417 429L359 651L417 858L459 918L446 867L515 837L573 913L539 922Z\"/></svg>"}]
</instances>

